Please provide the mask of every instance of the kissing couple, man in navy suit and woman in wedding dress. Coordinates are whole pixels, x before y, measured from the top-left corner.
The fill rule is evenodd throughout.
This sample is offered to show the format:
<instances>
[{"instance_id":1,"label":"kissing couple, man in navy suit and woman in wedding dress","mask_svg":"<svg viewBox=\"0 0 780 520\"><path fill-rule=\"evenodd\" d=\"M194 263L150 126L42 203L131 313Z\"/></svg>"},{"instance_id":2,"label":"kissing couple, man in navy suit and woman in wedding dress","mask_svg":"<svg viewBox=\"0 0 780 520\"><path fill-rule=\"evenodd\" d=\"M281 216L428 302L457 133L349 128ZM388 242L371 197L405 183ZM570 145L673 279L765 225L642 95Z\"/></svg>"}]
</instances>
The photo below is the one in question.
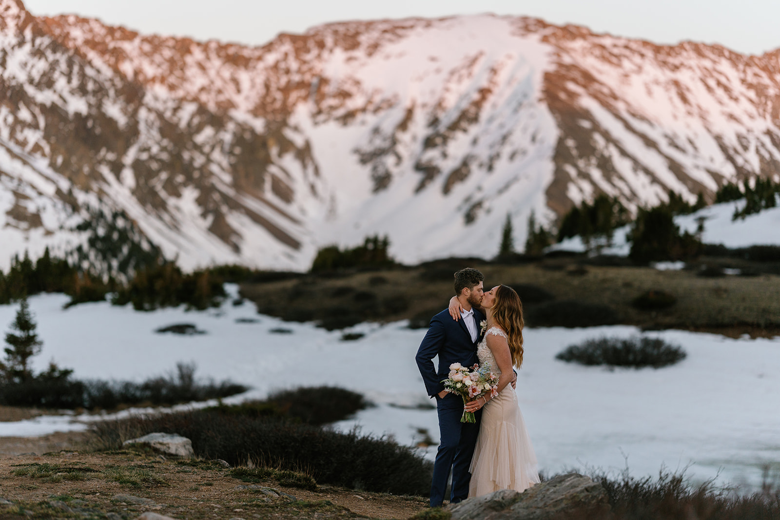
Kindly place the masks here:
<instances>
[{"instance_id":1,"label":"kissing couple, man in navy suit and woman in wedding dress","mask_svg":"<svg viewBox=\"0 0 780 520\"><path fill-rule=\"evenodd\" d=\"M450 502L497 490L522 492L539 482L537 458L517 402L517 374L523 364L523 303L514 289L497 285L484 292L484 275L466 268L455 274L449 308L431 318L417 350L417 366L428 395L436 399L440 444L431 482L431 507L441 506L452 471ZM438 356L438 370L433 359ZM463 404L445 390L449 366L490 366L499 374L498 394ZM476 423L462 423L463 410Z\"/></svg>"}]
</instances>

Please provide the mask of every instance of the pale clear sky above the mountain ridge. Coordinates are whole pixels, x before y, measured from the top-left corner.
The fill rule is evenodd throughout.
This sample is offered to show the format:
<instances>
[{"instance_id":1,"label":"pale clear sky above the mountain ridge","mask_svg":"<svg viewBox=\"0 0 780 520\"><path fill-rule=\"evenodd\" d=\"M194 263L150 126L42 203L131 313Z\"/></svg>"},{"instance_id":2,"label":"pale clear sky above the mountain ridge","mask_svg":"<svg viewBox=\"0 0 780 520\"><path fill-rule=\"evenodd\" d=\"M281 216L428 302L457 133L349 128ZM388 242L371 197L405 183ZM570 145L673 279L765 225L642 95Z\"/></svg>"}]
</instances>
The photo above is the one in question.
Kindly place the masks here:
<instances>
[{"instance_id":1,"label":"pale clear sky above the mountain ridge","mask_svg":"<svg viewBox=\"0 0 780 520\"><path fill-rule=\"evenodd\" d=\"M495 12L576 23L660 44L692 40L761 54L780 48L778 0L23 0L36 15L73 12L142 33L264 44L347 19Z\"/></svg>"}]
</instances>

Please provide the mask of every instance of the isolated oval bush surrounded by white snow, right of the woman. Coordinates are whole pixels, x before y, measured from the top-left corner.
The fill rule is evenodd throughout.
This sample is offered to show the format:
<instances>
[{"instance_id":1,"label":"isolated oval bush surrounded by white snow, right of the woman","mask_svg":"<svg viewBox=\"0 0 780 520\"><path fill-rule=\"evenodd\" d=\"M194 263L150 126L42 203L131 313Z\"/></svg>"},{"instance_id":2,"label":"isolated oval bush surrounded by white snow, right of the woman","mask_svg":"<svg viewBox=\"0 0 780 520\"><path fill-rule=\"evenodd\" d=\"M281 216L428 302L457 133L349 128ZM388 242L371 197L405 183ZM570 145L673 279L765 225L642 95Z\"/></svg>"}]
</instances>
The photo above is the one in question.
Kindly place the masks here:
<instances>
[{"instance_id":1,"label":"isolated oval bush surrounded by white snow, right of the woman","mask_svg":"<svg viewBox=\"0 0 780 520\"><path fill-rule=\"evenodd\" d=\"M558 352L555 359L567 363L595 366L629 366L643 368L674 365L686 358L683 348L670 345L660 338L598 338L582 345L570 345Z\"/></svg>"}]
</instances>

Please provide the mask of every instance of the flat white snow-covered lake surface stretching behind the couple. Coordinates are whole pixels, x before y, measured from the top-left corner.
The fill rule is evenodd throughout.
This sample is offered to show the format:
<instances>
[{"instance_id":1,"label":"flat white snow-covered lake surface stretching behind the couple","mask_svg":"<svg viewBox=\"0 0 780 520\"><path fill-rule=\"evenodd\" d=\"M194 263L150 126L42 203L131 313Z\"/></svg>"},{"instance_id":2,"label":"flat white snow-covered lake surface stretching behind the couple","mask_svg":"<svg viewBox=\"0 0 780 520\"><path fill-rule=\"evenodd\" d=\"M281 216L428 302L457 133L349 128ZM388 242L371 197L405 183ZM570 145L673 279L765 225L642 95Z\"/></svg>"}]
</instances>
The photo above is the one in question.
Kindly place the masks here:
<instances>
[{"instance_id":1,"label":"flat white snow-covered lake surface stretching behind the couple","mask_svg":"<svg viewBox=\"0 0 780 520\"><path fill-rule=\"evenodd\" d=\"M339 331L257 315L251 302L205 312L141 313L103 302L63 310L67 301L64 295L30 299L44 341L37 370L53 360L79 378L143 380L194 361L200 377L253 387L228 401L285 387L336 385L376 403L337 427L359 425L364 433L392 434L407 445L424 429L438 441L436 412L424 408L432 401L414 362L425 331L405 322L361 324L349 331L363 332L363 338L341 341ZM8 330L16 309L0 306L0 331ZM177 323L196 324L207 334L154 332ZM289 333L273 331L280 328ZM750 487L761 482L762 466L780 469L780 338L653 332L688 353L682 363L660 370L605 370L555 359L587 338L633 334L636 328L626 326L525 331L517 393L544 472L584 466L619 471L625 455L635 476L690 465L687 474L695 481L719 474L720 483ZM0 436L85 427L74 419L0 423ZM425 452L432 458L435 447Z\"/></svg>"}]
</instances>

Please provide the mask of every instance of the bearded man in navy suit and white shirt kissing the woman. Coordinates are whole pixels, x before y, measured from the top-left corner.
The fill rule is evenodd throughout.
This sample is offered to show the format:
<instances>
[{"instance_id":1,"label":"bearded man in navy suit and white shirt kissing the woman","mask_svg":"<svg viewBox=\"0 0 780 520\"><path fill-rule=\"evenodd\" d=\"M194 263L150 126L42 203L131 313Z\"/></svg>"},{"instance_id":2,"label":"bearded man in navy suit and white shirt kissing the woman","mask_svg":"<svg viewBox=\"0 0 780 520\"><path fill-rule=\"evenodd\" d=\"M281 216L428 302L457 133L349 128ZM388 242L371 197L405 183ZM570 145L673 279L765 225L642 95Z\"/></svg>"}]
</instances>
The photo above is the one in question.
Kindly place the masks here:
<instances>
[{"instance_id":1,"label":"bearded man in navy suit and white shirt kissing the woman","mask_svg":"<svg viewBox=\"0 0 780 520\"><path fill-rule=\"evenodd\" d=\"M474 413L476 423L461 423L463 399L444 389L442 380L449 376L449 366L460 363L472 366L478 363L477 341L480 322L484 316L475 307L482 302L484 276L477 269L463 269L455 274L455 293L463 307L463 320L453 320L449 310L431 318L428 332L417 350L417 366L423 376L428 395L436 398L441 444L434 463L431 483L431 507L441 506L452 469L452 494L455 504L469 494L471 474L469 465L477 443L482 410ZM438 356L438 370L433 359Z\"/></svg>"}]
</instances>

